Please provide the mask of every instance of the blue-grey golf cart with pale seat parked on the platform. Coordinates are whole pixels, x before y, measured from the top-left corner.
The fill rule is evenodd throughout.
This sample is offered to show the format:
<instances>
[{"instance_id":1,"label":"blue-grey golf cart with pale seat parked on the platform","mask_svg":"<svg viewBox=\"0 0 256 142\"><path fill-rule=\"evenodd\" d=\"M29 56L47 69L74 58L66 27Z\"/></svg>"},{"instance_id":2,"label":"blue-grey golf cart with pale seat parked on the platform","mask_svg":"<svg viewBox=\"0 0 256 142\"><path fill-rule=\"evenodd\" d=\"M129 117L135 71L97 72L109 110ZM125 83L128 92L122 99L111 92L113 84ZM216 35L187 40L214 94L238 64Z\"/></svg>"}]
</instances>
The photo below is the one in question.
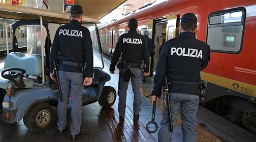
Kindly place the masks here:
<instances>
[{"instance_id":1,"label":"blue-grey golf cart with pale seat parked on the platform","mask_svg":"<svg viewBox=\"0 0 256 142\"><path fill-rule=\"evenodd\" d=\"M42 17L16 21L12 24L13 36L21 25L40 25L41 30L36 28L35 31L35 34L40 35L44 26L47 32L45 46L43 48L43 41L40 41L39 47L34 44L37 46L27 49L30 55L21 52L11 52L7 55L0 78L0 101L3 104L0 105L0 120L15 123L23 119L30 131L42 132L55 122L52 107L57 107L59 97L57 83L49 78L52 70L49 70L51 40L48 21ZM99 38L99 33L97 35ZM27 36L29 39L30 35ZM103 56L101 44L98 45ZM103 60L102 64L104 67ZM98 101L102 107L108 108L114 104L116 91L111 86L105 86L110 80L110 75L102 70L103 67L94 67L92 84L83 90L82 105Z\"/></svg>"}]
</instances>

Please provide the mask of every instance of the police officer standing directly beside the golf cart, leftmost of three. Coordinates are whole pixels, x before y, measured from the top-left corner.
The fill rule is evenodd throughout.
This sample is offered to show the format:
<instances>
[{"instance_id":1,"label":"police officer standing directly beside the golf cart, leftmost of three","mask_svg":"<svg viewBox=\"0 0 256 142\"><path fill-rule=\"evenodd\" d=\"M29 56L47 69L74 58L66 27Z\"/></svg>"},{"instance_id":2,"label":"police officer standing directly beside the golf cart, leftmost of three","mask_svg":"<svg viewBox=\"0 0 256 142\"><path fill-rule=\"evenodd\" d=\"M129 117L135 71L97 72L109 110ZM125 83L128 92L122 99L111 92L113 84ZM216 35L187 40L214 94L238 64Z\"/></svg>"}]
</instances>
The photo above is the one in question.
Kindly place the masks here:
<instances>
[{"instance_id":1,"label":"police officer standing directly beside the golf cart, leftmost of three","mask_svg":"<svg viewBox=\"0 0 256 142\"><path fill-rule=\"evenodd\" d=\"M63 101L58 101L58 134L67 130L67 108L71 93L71 126L70 139L76 140L83 131L82 95L84 86L92 83L93 53L89 30L81 25L83 9L74 5L70 9L71 21L60 26L54 37L50 53L50 69L53 70L52 59L59 59L58 75ZM83 78L82 68L86 61L86 77ZM50 74L51 79L55 80Z\"/></svg>"}]
</instances>

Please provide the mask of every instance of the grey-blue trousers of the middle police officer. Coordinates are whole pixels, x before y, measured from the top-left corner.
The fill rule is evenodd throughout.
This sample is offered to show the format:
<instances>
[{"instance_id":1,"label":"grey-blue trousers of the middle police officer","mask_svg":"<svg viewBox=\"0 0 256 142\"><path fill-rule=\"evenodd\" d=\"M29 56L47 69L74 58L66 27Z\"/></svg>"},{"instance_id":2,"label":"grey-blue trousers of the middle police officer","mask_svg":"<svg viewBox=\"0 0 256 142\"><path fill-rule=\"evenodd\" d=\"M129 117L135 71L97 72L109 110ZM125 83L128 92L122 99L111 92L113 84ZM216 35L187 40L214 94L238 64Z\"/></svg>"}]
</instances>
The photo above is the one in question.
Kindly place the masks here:
<instances>
[{"instance_id":1,"label":"grey-blue trousers of the middle police officer","mask_svg":"<svg viewBox=\"0 0 256 142\"><path fill-rule=\"evenodd\" d=\"M141 92L140 92L140 84L141 84L141 69L130 67L131 72L134 76L131 77L131 82L133 86L134 92L134 102L133 102L133 111L135 115L138 115L141 111ZM126 72L126 69L123 68L121 74ZM124 77L120 79L120 93L119 93L119 103L118 103L118 112L119 116L124 117L125 108L126 108L126 96L127 96L127 88L129 82L124 82Z\"/></svg>"}]
</instances>

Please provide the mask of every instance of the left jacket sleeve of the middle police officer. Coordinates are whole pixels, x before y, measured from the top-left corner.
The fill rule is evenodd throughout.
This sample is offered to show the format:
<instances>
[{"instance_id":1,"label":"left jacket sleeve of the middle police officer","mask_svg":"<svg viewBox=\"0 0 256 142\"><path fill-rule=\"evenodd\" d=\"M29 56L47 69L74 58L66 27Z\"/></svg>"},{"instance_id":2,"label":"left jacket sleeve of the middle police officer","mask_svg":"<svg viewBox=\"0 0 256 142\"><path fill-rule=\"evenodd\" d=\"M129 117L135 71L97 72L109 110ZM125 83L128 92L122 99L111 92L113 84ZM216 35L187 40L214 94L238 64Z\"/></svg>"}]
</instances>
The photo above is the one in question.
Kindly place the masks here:
<instances>
[{"instance_id":1,"label":"left jacket sleeve of the middle police officer","mask_svg":"<svg viewBox=\"0 0 256 142\"><path fill-rule=\"evenodd\" d=\"M116 48L115 48L115 51L113 53L113 57L111 59L111 64L109 66L109 71L112 72L115 70L115 65L117 64L118 62L118 59L119 57L121 56L121 53L122 53L122 35L120 36L118 42L116 43Z\"/></svg>"}]
</instances>

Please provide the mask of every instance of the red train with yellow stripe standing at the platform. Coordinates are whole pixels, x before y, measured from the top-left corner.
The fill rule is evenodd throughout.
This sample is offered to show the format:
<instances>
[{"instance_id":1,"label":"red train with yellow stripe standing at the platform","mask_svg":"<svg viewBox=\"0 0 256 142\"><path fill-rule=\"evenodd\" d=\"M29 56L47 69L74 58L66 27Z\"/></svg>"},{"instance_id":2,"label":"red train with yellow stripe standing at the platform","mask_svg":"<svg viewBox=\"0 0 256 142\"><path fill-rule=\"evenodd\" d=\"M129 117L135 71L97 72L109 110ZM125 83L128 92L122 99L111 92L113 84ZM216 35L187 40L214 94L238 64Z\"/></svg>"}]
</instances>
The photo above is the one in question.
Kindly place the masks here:
<instances>
[{"instance_id":1,"label":"red train with yellow stripe standing at the platform","mask_svg":"<svg viewBox=\"0 0 256 142\"><path fill-rule=\"evenodd\" d=\"M150 64L153 76L159 47L178 37L180 18L189 12L198 17L197 38L211 47L209 65L201 72L208 82L202 105L256 133L255 0L155 1L100 26L103 52L113 54L118 37L129 30L129 19L136 18L137 32L148 30L156 46Z\"/></svg>"}]
</instances>

